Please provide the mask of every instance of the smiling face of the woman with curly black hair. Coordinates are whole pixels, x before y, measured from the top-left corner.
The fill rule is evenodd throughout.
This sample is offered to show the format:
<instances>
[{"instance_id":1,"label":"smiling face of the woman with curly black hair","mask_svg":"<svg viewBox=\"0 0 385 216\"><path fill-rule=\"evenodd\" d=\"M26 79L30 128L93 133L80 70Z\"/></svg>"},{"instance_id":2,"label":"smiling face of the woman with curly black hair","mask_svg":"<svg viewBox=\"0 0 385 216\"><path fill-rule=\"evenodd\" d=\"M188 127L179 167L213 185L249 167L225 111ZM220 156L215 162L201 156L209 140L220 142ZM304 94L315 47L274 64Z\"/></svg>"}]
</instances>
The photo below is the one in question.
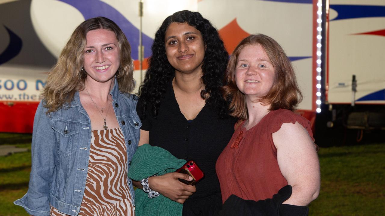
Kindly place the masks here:
<instances>
[{"instance_id":1,"label":"smiling face of the woman with curly black hair","mask_svg":"<svg viewBox=\"0 0 385 216\"><path fill-rule=\"evenodd\" d=\"M167 60L175 71L201 73L204 43L201 32L187 23L171 23L166 31Z\"/></svg>"}]
</instances>

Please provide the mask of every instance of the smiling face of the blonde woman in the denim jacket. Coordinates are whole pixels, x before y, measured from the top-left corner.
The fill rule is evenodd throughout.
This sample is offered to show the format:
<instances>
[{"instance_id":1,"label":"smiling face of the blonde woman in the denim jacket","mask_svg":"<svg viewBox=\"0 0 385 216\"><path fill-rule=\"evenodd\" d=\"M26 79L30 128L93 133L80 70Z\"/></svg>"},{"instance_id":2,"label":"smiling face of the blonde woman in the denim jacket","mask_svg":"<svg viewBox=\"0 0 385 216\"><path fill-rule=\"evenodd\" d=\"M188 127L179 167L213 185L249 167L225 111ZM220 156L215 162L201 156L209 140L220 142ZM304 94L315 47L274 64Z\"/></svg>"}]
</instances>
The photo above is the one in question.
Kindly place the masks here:
<instances>
[{"instance_id":1,"label":"smiling face of the blonde woman in the denim jacket","mask_svg":"<svg viewBox=\"0 0 385 216\"><path fill-rule=\"evenodd\" d=\"M120 65L120 52L115 33L105 29L91 30L86 35L83 54L87 79L106 82L114 77Z\"/></svg>"}]
</instances>

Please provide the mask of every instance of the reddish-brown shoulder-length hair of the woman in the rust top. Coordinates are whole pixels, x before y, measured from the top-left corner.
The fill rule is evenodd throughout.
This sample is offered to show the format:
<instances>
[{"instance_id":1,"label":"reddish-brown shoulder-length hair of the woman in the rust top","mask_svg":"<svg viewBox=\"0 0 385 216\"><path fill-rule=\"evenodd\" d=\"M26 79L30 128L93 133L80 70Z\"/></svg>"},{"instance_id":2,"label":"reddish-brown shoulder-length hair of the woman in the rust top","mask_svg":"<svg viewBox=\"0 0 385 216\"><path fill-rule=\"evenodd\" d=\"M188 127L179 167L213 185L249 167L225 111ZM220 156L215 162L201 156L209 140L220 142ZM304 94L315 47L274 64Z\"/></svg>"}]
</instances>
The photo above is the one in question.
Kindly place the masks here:
<instances>
[{"instance_id":1,"label":"reddish-brown shoulder-length hair of the woman in the rust top","mask_svg":"<svg viewBox=\"0 0 385 216\"><path fill-rule=\"evenodd\" d=\"M283 108L293 111L303 98L297 84L293 66L282 47L273 38L266 35L250 35L238 44L231 55L224 78L226 85L222 87L224 98L230 101L230 115L241 120L248 118L248 111L245 96L239 91L235 83L236 65L238 56L243 48L256 44L263 47L269 57L269 61L274 66L275 72L273 86L258 102L263 105L270 105L269 110Z\"/></svg>"}]
</instances>

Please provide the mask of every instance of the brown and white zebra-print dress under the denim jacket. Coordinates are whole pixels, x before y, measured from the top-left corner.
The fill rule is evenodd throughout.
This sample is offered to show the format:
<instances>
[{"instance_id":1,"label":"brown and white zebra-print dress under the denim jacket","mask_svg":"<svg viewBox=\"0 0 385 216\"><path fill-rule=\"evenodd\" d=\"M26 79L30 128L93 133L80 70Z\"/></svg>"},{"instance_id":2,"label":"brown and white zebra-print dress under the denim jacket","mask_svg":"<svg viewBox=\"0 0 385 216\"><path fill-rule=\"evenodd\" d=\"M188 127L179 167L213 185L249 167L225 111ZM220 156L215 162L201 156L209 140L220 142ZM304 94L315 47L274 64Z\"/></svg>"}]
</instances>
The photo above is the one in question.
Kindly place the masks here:
<instances>
[{"instance_id":1,"label":"brown and white zebra-print dress under the denim jacket","mask_svg":"<svg viewBox=\"0 0 385 216\"><path fill-rule=\"evenodd\" d=\"M51 207L51 216L67 216ZM92 130L90 159L79 216L134 216L121 128Z\"/></svg>"}]
</instances>

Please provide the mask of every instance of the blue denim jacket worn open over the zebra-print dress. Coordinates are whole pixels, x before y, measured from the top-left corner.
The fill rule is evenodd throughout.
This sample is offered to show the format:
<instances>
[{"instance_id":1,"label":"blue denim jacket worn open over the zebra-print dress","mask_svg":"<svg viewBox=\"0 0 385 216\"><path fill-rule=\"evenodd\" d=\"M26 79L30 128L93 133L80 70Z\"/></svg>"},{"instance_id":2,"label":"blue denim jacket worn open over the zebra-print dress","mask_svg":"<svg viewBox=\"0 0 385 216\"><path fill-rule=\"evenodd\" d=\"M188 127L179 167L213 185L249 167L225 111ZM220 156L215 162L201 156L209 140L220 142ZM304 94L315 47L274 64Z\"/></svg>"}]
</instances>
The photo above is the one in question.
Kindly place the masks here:
<instances>
[{"instance_id":1,"label":"blue denim jacket worn open over the zebra-print dress","mask_svg":"<svg viewBox=\"0 0 385 216\"><path fill-rule=\"evenodd\" d=\"M128 169L138 146L139 128L142 126L136 113L137 100L134 95L119 92L117 82L110 95L126 140L127 161L130 161ZM33 121L32 169L28 191L14 203L35 216L49 216L50 205L64 214L76 216L87 179L90 118L80 103L79 92L75 93L70 104L60 110L48 115L46 111L43 101L40 102ZM131 179L129 184L134 196Z\"/></svg>"}]
</instances>

